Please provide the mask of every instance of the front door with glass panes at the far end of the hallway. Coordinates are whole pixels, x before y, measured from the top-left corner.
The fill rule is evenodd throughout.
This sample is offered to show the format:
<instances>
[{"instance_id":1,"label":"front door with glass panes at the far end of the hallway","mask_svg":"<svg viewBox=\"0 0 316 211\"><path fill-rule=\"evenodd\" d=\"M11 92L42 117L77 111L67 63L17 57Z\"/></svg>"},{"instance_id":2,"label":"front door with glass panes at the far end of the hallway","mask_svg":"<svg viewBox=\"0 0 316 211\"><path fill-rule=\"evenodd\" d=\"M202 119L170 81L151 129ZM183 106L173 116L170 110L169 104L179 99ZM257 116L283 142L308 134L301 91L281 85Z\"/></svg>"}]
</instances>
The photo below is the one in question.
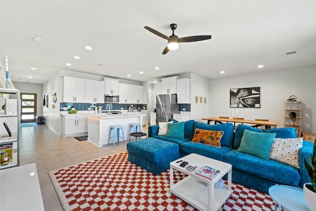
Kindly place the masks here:
<instances>
[{"instance_id":1,"label":"front door with glass panes at the far end of the hallway","mask_svg":"<svg viewBox=\"0 0 316 211\"><path fill-rule=\"evenodd\" d=\"M21 123L36 122L37 94L20 93L21 98Z\"/></svg>"}]
</instances>

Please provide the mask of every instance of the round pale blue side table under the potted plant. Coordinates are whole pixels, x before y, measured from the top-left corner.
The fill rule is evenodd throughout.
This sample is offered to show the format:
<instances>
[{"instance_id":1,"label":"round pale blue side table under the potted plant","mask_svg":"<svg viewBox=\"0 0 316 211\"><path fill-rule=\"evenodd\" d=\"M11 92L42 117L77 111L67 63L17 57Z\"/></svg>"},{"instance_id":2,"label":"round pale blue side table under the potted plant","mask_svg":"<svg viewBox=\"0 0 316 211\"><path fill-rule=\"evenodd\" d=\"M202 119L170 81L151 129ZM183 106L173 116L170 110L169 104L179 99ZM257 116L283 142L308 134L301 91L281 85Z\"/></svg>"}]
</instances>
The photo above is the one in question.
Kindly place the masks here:
<instances>
[{"instance_id":1,"label":"round pale blue side table under the potted plant","mask_svg":"<svg viewBox=\"0 0 316 211\"><path fill-rule=\"evenodd\" d=\"M309 211L303 189L288 185L274 185L269 188L269 195L275 202L275 211Z\"/></svg>"}]
</instances>

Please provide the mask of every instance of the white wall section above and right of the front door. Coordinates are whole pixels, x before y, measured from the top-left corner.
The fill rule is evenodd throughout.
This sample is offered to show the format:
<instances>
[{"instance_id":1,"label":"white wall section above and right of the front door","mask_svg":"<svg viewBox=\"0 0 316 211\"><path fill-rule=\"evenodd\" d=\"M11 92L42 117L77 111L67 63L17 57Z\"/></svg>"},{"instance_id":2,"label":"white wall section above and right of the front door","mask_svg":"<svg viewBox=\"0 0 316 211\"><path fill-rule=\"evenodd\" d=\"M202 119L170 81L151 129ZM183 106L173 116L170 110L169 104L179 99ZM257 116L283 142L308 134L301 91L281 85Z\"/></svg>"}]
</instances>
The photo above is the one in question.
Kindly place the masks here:
<instances>
[{"instance_id":1,"label":"white wall section above and right of the front door","mask_svg":"<svg viewBox=\"0 0 316 211\"><path fill-rule=\"evenodd\" d=\"M21 93L33 93L37 94L37 115L43 114L43 84L33 84L25 82L13 82L16 89Z\"/></svg>"}]
</instances>

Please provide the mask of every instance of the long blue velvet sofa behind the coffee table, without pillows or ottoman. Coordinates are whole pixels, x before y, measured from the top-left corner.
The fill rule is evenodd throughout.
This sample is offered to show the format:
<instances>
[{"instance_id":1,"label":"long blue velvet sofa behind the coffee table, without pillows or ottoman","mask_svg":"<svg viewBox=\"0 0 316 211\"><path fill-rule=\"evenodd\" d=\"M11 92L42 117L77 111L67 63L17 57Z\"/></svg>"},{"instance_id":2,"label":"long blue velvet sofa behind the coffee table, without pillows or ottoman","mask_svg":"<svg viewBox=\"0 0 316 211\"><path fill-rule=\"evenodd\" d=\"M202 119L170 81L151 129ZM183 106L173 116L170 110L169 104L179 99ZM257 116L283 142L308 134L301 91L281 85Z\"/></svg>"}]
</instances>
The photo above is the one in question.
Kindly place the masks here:
<instances>
[{"instance_id":1,"label":"long blue velvet sofa behind the coffee table, without pillows or ottoman","mask_svg":"<svg viewBox=\"0 0 316 211\"><path fill-rule=\"evenodd\" d=\"M169 121L171 120L177 122L173 119L170 119ZM217 148L214 146L191 142L196 128L224 131L220 141L221 147ZM158 125L150 126L148 129L148 135L150 138L159 139L159 141L162 140L178 144L181 157L191 153L196 153L231 164L233 167L233 182L253 188L263 193L268 194L269 187L275 184L303 188L304 183L310 182L310 178L304 168L304 157L307 157L308 151L309 154L313 153L312 142L303 141L303 147L299 151L301 168L298 169L276 160L265 160L253 155L238 152L237 149L240 145L243 131L245 129L255 132L276 133L276 138L296 138L296 131L292 127L261 130L246 125L238 125L236 131L234 131L234 126L231 123L207 125L194 120L185 122L184 138L158 135ZM146 139L142 140L145 141Z\"/></svg>"}]
</instances>

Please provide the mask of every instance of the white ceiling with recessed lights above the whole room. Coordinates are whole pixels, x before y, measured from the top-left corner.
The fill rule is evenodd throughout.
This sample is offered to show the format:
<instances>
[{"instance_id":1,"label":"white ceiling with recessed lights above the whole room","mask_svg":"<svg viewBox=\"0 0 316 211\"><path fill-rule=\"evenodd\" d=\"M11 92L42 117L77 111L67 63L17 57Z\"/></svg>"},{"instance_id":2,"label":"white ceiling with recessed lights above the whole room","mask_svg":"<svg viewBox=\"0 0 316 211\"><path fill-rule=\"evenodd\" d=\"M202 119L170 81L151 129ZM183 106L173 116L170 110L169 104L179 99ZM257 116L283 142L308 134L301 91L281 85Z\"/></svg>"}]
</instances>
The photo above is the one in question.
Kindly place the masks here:
<instances>
[{"instance_id":1,"label":"white ceiling with recessed lights above the whole room","mask_svg":"<svg viewBox=\"0 0 316 211\"><path fill-rule=\"evenodd\" d=\"M162 55L167 41L144 26L170 36L171 23L179 38L212 39ZM59 69L152 83L190 72L213 79L312 66L316 1L0 0L1 71L5 55L12 81L41 84Z\"/></svg>"}]
</instances>

